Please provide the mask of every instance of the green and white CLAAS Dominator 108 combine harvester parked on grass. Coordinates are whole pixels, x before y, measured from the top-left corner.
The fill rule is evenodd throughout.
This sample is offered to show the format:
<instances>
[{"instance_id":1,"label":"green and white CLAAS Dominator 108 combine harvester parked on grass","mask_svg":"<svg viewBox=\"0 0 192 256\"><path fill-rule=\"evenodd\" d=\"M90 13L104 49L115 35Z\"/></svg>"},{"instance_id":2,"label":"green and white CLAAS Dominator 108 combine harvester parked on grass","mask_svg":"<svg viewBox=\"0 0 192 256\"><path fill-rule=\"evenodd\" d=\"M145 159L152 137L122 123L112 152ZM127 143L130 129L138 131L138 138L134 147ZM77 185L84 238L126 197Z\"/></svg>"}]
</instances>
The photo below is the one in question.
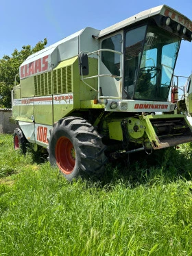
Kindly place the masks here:
<instances>
[{"instance_id":1,"label":"green and white CLAAS Dominator 108 combine harvester parked on grass","mask_svg":"<svg viewBox=\"0 0 192 256\"><path fill-rule=\"evenodd\" d=\"M191 42L192 22L160 5L29 56L12 92L14 148L46 148L71 181L101 175L108 158L192 141L168 101L182 39Z\"/></svg>"}]
</instances>

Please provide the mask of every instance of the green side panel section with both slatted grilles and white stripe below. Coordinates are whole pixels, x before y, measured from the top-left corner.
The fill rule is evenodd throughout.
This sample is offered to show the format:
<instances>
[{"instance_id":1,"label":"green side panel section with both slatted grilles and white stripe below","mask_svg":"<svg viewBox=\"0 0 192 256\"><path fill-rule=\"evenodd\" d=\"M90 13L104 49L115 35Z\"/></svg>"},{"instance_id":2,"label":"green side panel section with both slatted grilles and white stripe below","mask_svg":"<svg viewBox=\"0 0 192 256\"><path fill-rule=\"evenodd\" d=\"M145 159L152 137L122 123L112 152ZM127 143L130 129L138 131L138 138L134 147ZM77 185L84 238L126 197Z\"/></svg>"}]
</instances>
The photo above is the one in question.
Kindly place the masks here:
<instances>
[{"instance_id":1,"label":"green side panel section with both slatted grilles and white stripe below","mask_svg":"<svg viewBox=\"0 0 192 256\"><path fill-rule=\"evenodd\" d=\"M34 121L52 126L73 110L73 91L80 91L77 57L64 60L51 72L36 75Z\"/></svg>"}]
</instances>

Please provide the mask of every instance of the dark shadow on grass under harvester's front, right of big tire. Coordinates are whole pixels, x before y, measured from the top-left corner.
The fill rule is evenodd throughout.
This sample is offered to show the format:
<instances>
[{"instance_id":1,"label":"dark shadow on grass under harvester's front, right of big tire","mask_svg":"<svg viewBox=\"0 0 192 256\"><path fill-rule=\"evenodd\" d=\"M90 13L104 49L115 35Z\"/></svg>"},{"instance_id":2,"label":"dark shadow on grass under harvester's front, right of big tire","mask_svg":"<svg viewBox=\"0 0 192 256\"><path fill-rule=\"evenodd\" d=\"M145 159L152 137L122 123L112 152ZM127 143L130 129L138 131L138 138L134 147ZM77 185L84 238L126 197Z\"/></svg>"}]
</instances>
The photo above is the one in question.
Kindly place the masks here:
<instances>
[{"instance_id":1,"label":"dark shadow on grass under harvester's front, right of big tire","mask_svg":"<svg viewBox=\"0 0 192 256\"><path fill-rule=\"evenodd\" d=\"M148 155L145 152L130 154L106 165L106 172L100 179L101 185L122 181L136 185L153 185L157 181L170 183L178 178L187 181L192 177L192 143L185 144L179 150L166 148L155 150Z\"/></svg>"}]
</instances>

